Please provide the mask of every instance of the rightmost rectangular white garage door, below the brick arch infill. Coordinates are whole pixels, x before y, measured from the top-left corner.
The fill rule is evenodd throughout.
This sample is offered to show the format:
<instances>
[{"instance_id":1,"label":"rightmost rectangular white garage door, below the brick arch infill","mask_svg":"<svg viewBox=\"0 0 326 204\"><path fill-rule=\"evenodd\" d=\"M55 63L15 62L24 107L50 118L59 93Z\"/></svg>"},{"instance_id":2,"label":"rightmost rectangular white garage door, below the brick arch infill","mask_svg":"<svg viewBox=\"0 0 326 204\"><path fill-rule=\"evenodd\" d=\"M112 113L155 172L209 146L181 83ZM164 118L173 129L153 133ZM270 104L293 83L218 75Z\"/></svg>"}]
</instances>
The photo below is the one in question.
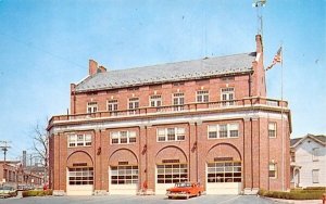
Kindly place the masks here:
<instances>
[{"instance_id":1,"label":"rightmost rectangular white garage door, below the brick arch infill","mask_svg":"<svg viewBox=\"0 0 326 204\"><path fill-rule=\"evenodd\" d=\"M241 192L241 187L240 162L208 163L208 194L239 194Z\"/></svg>"}]
</instances>

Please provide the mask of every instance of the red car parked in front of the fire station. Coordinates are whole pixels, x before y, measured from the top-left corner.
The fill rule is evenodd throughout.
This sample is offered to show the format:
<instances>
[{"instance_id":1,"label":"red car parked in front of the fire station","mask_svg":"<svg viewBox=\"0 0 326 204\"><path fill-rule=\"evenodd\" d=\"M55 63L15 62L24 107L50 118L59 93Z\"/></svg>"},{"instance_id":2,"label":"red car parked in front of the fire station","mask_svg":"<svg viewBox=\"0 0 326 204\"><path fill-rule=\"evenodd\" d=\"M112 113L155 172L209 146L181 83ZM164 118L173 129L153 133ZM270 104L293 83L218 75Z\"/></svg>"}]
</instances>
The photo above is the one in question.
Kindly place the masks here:
<instances>
[{"instance_id":1,"label":"red car parked in front of the fire station","mask_svg":"<svg viewBox=\"0 0 326 204\"><path fill-rule=\"evenodd\" d=\"M166 190L168 199L200 196L203 192L203 187L198 182L178 182L175 187Z\"/></svg>"}]
</instances>

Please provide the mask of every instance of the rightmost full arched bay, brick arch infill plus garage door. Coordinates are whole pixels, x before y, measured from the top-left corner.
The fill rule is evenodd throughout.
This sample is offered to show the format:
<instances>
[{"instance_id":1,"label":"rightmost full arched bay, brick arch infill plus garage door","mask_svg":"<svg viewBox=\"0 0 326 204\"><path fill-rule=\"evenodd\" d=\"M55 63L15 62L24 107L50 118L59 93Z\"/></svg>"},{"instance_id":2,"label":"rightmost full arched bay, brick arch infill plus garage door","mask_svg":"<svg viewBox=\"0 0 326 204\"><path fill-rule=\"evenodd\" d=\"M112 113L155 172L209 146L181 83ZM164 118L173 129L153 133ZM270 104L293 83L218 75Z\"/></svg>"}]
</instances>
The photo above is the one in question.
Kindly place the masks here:
<instances>
[{"instance_id":1,"label":"rightmost full arched bay, brick arch infill plus garage door","mask_svg":"<svg viewBox=\"0 0 326 204\"><path fill-rule=\"evenodd\" d=\"M229 144L212 148L206 156L206 193L239 194L242 170L238 151Z\"/></svg>"}]
</instances>

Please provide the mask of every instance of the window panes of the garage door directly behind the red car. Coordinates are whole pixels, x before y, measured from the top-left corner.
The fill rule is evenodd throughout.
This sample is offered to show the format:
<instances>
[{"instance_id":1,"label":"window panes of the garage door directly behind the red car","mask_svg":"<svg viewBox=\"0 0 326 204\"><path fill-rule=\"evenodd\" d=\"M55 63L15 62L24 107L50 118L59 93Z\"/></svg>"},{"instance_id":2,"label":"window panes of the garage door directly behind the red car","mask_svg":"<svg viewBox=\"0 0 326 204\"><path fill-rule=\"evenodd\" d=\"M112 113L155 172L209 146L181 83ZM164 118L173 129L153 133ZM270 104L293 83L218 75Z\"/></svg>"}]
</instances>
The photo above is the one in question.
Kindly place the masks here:
<instances>
[{"instance_id":1,"label":"window panes of the garage door directly behind the red car","mask_svg":"<svg viewBox=\"0 0 326 204\"><path fill-rule=\"evenodd\" d=\"M188 180L187 164L162 164L156 166L158 183L177 183Z\"/></svg>"}]
</instances>

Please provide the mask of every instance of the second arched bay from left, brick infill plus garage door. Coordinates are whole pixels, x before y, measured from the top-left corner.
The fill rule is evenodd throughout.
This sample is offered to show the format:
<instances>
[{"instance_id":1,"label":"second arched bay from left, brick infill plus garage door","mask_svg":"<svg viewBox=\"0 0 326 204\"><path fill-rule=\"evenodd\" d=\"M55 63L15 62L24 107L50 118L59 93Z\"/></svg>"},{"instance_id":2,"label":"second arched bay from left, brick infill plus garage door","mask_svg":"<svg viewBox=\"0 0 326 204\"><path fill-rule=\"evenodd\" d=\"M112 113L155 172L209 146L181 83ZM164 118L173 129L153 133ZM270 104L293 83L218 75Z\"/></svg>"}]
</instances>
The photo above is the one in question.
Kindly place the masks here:
<instances>
[{"instance_id":1,"label":"second arched bay from left, brick infill plus garage door","mask_svg":"<svg viewBox=\"0 0 326 204\"><path fill-rule=\"evenodd\" d=\"M138 191L138 161L129 150L114 152L109 161L109 193L136 194Z\"/></svg>"}]
</instances>

